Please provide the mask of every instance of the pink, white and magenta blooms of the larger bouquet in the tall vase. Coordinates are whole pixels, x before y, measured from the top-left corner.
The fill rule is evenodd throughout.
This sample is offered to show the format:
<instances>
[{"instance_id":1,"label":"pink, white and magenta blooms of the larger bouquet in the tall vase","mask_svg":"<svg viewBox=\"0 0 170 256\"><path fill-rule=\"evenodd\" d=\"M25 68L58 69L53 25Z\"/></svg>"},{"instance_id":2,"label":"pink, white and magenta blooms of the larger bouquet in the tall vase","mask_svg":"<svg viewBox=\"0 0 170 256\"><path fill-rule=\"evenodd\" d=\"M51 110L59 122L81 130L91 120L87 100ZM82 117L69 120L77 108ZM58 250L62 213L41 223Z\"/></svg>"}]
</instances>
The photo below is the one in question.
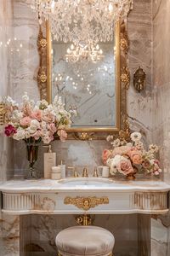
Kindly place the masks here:
<instances>
[{"instance_id":1,"label":"pink, white and magenta blooms of the larger bouquet in the tall vase","mask_svg":"<svg viewBox=\"0 0 170 256\"><path fill-rule=\"evenodd\" d=\"M4 133L7 137L46 144L55 136L62 142L67 138L65 128L71 125L71 113L65 110L60 97L56 96L52 104L45 100L35 103L25 94L20 105L9 96L4 103L8 120Z\"/></svg>"}]
</instances>

